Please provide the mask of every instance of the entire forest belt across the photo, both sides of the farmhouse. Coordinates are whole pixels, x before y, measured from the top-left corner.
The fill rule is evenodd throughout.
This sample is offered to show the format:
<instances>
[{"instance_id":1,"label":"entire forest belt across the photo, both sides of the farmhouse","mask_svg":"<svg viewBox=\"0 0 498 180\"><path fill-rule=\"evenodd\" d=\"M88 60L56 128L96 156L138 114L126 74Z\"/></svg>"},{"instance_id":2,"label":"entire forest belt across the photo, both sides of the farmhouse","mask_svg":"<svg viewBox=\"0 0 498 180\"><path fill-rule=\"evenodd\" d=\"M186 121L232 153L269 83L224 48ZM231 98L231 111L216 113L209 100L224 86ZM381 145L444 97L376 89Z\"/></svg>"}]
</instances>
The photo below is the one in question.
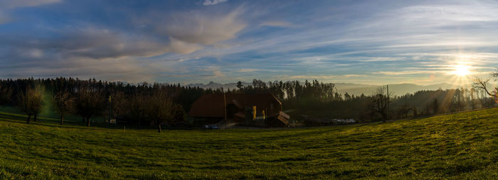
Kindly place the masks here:
<instances>
[{"instance_id":1,"label":"entire forest belt across the photo, both sides of the farmhouse","mask_svg":"<svg viewBox=\"0 0 498 180\"><path fill-rule=\"evenodd\" d=\"M489 81L489 80L488 80ZM477 79L475 84L487 84ZM293 120L303 117L354 119L357 122L414 118L493 107L496 96L487 86L470 89L438 89L391 96L386 86L372 94L339 94L332 83L313 81L253 80L238 89L201 89L181 84L97 81L96 79L4 79L0 80L0 105L15 106L36 121L43 106L50 106L60 116L80 116L90 126L90 118L124 118L142 126L171 125L187 119L191 104L203 94L270 93L282 102L283 111ZM495 92L495 91L494 91ZM108 117L110 115L110 117ZM188 121L188 120L187 120ZM191 124L196 122L188 121Z\"/></svg>"}]
</instances>

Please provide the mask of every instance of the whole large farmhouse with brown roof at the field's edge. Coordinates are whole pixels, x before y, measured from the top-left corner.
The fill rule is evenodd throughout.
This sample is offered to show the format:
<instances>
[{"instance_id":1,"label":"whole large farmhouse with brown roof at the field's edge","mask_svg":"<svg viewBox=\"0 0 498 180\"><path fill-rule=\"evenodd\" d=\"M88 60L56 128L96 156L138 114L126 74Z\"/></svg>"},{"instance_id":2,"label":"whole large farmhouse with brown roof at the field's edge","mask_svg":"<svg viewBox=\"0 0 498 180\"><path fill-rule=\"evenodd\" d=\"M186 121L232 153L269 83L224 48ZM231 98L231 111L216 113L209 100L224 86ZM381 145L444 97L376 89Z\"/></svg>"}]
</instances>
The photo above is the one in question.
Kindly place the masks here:
<instances>
[{"instance_id":1,"label":"whole large farmhouse with brown roof at the field's edge","mask_svg":"<svg viewBox=\"0 0 498 180\"><path fill-rule=\"evenodd\" d=\"M290 118L272 94L204 94L192 104L189 116L218 121L226 116L240 125L261 127L285 127Z\"/></svg>"}]
</instances>

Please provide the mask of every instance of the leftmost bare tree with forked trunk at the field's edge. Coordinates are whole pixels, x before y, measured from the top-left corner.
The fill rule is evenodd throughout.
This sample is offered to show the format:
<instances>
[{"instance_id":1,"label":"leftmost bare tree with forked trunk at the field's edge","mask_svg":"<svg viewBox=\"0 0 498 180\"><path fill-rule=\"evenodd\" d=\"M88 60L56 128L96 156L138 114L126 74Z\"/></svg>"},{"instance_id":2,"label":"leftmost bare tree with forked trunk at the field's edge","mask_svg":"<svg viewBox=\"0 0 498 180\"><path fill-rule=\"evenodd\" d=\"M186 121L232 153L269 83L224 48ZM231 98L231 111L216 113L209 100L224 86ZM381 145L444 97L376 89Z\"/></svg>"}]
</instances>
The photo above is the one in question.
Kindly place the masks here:
<instances>
[{"instance_id":1,"label":"leftmost bare tree with forked trunk at the field's edge","mask_svg":"<svg viewBox=\"0 0 498 180\"><path fill-rule=\"evenodd\" d=\"M30 87L26 88L26 91L19 94L19 109L28 115L26 123L29 123L31 116L35 116L41 112L41 106L43 103L43 94L41 93L41 88L37 86L35 89Z\"/></svg>"}]
</instances>

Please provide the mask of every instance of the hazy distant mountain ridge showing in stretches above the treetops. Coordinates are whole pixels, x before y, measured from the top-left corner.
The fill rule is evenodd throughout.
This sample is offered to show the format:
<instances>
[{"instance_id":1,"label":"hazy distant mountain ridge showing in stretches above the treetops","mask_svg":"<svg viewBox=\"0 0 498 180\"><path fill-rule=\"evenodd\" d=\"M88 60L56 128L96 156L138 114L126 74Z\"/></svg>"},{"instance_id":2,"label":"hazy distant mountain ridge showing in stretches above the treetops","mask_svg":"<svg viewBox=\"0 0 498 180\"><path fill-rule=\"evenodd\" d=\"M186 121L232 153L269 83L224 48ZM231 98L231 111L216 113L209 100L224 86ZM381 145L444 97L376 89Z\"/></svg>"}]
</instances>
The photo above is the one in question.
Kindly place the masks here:
<instances>
[{"instance_id":1,"label":"hazy distant mountain ridge showing in stretches above the treetops","mask_svg":"<svg viewBox=\"0 0 498 180\"><path fill-rule=\"evenodd\" d=\"M249 86L252 85L252 82L242 82L243 86ZM355 95L359 96L361 94L365 95L371 95L375 93L376 89L378 89L378 85L371 85L371 84L353 84L353 83L334 83L335 87L337 88L337 91L339 94L346 94L346 92L350 95ZM228 84L219 84L213 81L210 81L208 84L188 84L186 86L197 86L201 87L203 89L238 89L237 88L237 83L228 83ZM455 88L462 88L462 87L468 87L466 86L460 86L460 85L455 85L455 84L446 84L446 83L441 83L441 84L432 84L432 85L418 85L418 84L389 84L389 91L390 94L393 96L401 96L403 94L413 94L416 91L423 91L423 90L438 90L438 89L455 89Z\"/></svg>"}]
</instances>

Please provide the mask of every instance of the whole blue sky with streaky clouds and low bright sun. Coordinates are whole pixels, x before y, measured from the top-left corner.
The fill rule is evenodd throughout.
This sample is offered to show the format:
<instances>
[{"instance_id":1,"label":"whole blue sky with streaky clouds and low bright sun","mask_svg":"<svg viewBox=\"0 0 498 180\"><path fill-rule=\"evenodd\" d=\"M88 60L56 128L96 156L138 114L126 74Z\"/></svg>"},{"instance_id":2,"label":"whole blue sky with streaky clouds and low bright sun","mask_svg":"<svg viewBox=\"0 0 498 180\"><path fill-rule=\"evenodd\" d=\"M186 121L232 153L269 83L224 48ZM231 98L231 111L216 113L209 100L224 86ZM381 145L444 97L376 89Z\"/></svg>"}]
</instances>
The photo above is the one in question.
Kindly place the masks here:
<instances>
[{"instance_id":1,"label":"whole blue sky with streaky clouds and low bright sun","mask_svg":"<svg viewBox=\"0 0 498 180\"><path fill-rule=\"evenodd\" d=\"M0 0L0 78L467 84L498 1Z\"/></svg>"}]
</instances>

